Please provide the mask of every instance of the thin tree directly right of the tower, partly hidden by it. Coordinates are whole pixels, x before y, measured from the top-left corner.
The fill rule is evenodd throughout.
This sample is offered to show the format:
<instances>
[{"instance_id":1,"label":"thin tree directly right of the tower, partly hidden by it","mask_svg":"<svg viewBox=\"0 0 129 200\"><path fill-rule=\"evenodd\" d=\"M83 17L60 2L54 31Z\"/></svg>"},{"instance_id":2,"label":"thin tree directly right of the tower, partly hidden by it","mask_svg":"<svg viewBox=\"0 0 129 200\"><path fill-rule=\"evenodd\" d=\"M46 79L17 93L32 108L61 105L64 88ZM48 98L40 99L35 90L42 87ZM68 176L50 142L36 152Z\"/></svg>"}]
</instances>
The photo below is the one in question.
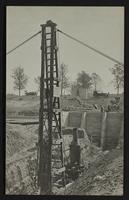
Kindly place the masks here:
<instances>
[{"instance_id":1,"label":"thin tree directly right of the tower, partly hidden by it","mask_svg":"<svg viewBox=\"0 0 129 200\"><path fill-rule=\"evenodd\" d=\"M69 88L70 86L68 80L68 67L64 63L62 63L59 68L59 79L61 81L61 96L62 96L63 92L65 93L65 89Z\"/></svg>"}]
</instances>

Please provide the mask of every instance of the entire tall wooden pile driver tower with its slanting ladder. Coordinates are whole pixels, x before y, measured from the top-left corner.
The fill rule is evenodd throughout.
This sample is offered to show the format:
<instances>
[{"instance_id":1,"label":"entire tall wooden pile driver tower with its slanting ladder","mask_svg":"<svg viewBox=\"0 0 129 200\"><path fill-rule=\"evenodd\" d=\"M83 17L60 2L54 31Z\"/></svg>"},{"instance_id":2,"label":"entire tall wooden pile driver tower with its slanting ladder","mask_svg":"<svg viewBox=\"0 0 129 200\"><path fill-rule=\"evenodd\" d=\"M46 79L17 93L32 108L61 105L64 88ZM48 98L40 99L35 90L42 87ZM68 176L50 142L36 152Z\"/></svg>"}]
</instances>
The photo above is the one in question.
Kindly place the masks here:
<instances>
[{"instance_id":1,"label":"entire tall wooden pile driver tower with its slanting ladder","mask_svg":"<svg viewBox=\"0 0 129 200\"><path fill-rule=\"evenodd\" d=\"M64 184L63 140L56 24L41 25L41 79L39 111L38 186L40 194L52 194L56 176Z\"/></svg>"}]
</instances>

